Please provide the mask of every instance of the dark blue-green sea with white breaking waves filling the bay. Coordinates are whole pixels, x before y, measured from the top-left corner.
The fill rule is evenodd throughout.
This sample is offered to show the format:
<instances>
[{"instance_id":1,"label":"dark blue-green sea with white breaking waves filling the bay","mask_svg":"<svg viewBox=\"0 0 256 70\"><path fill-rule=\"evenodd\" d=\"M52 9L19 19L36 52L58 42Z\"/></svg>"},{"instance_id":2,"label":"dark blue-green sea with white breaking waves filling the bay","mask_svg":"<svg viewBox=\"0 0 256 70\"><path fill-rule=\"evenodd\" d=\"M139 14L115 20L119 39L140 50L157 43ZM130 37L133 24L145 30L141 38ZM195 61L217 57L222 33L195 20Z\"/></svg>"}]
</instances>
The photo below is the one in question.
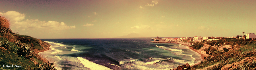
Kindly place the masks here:
<instances>
[{"instance_id":1,"label":"dark blue-green sea with white breaking waves filling the bay","mask_svg":"<svg viewBox=\"0 0 256 70\"><path fill-rule=\"evenodd\" d=\"M51 45L39 55L57 69L172 69L197 64L201 55L188 46L151 43L151 38L41 39Z\"/></svg>"}]
</instances>

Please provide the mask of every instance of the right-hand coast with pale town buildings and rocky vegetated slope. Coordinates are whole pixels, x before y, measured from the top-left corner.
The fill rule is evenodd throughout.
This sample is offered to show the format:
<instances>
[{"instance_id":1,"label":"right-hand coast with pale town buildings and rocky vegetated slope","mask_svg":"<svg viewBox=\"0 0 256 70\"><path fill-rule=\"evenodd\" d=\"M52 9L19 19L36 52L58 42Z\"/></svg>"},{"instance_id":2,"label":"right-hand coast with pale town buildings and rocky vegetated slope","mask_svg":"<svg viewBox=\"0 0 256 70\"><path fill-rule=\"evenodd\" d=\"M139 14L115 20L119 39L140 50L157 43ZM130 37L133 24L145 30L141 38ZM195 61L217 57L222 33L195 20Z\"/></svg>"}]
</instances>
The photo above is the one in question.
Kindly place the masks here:
<instances>
[{"instance_id":1,"label":"right-hand coast with pale town buildings and rocky vegetated slope","mask_svg":"<svg viewBox=\"0 0 256 70\"><path fill-rule=\"evenodd\" d=\"M178 66L177 68L170 69L170 70L189 70L189 69L197 69L197 70L232 70L232 69L239 69L243 65L253 64L252 62L256 61L255 58L255 49L254 43L256 41L255 33L247 33L242 32L243 36L232 36L232 37L180 37L180 38L152 38L152 43L177 43L181 45L187 45L191 50L201 54L203 61L199 64L195 64L190 66L188 63ZM242 47L242 51L241 51ZM245 51L246 50L246 51ZM247 57L253 54L252 57ZM221 56L226 55L226 56ZM231 56L231 57L227 57ZM236 59L239 57L240 59ZM245 58L245 59L242 59ZM232 59L230 59L232 58ZM224 61L224 63L217 63L218 61ZM245 62L247 61L247 62ZM248 63L249 62L249 63ZM207 66L208 65L208 66ZM255 63L254 63L255 65ZM246 67L242 67L246 69ZM249 69L249 68L248 68ZM256 69L252 66L251 69Z\"/></svg>"}]
</instances>

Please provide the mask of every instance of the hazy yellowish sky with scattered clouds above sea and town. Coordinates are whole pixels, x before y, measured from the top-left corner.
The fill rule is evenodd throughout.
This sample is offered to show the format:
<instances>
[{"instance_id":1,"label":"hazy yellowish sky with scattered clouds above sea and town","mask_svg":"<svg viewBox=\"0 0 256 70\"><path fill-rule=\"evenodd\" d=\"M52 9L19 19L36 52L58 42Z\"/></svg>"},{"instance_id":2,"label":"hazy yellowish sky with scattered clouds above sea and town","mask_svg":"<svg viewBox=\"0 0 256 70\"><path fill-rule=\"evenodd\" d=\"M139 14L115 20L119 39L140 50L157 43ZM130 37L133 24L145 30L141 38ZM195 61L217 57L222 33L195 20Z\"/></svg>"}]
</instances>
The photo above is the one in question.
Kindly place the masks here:
<instances>
[{"instance_id":1,"label":"hazy yellowish sky with scattered clouds above sea and town","mask_svg":"<svg viewBox=\"0 0 256 70\"><path fill-rule=\"evenodd\" d=\"M256 33L256 0L1 0L0 12L39 39Z\"/></svg>"}]
</instances>

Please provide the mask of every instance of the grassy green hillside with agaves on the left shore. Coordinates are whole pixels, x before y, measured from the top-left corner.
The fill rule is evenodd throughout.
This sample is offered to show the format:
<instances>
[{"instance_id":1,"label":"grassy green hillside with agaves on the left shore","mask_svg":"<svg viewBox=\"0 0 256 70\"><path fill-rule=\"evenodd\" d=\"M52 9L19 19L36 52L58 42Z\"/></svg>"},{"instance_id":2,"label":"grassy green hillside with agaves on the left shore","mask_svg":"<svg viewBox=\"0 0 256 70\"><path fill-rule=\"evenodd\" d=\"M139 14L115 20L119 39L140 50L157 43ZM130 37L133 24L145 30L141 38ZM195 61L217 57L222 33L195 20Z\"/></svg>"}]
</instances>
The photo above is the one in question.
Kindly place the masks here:
<instances>
[{"instance_id":1,"label":"grassy green hillside with agaves on the left shore","mask_svg":"<svg viewBox=\"0 0 256 70\"><path fill-rule=\"evenodd\" d=\"M12 32L9 20L2 15L0 18L0 70L56 69L53 63L49 63L48 60L37 54L49 50L48 43L31 36L20 35L18 32Z\"/></svg>"}]
</instances>

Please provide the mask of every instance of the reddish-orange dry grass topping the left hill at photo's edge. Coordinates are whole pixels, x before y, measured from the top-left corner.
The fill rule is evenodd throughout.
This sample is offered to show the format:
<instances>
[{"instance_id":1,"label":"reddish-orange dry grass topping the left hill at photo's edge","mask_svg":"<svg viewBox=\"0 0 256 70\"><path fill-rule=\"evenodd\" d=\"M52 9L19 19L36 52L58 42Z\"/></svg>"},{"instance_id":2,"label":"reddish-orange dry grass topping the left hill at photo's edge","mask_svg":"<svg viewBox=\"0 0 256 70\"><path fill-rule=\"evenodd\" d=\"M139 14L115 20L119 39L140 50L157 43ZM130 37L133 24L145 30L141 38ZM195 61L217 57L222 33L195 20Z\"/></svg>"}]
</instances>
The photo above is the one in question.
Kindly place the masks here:
<instances>
[{"instance_id":1,"label":"reddish-orange dry grass topping the left hill at photo's edge","mask_svg":"<svg viewBox=\"0 0 256 70\"><path fill-rule=\"evenodd\" d=\"M0 15L0 27L3 28L9 28L10 27L10 20L8 20L5 16L3 16L2 14Z\"/></svg>"}]
</instances>

